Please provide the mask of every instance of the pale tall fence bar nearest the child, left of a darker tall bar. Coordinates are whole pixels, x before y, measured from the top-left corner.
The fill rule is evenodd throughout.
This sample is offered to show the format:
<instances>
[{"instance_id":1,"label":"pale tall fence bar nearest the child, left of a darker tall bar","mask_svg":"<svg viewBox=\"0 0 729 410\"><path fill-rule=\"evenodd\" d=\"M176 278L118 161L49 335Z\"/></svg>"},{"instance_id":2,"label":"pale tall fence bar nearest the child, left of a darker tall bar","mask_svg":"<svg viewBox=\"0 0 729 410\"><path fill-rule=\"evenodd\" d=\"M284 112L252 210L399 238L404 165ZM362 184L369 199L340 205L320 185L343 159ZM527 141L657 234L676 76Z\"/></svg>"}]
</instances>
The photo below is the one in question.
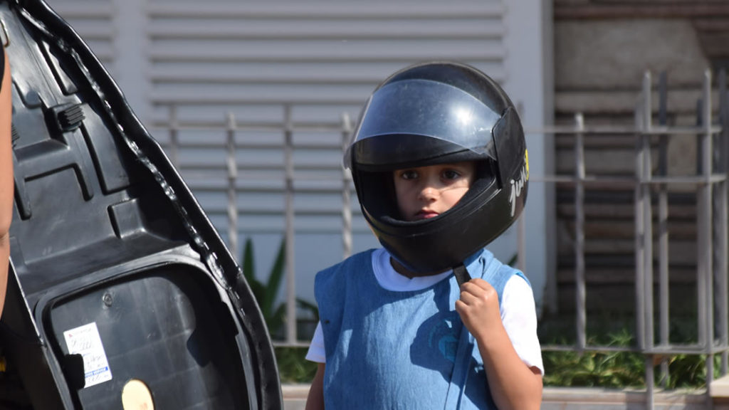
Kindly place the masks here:
<instances>
[{"instance_id":1,"label":"pale tall fence bar nearest the child, left of a darker tall bar","mask_svg":"<svg viewBox=\"0 0 729 410\"><path fill-rule=\"evenodd\" d=\"M644 317L644 349L652 349L653 347L653 227L652 227L652 201L651 201L651 150L650 150L650 134L652 128L652 95L651 95L651 75L646 72L643 76L643 119L641 135L641 152L643 156L642 169L642 205L643 205L643 313ZM653 376L653 360L652 356L647 355L646 360L646 385L647 385L647 410L653 409L653 392L655 378Z\"/></svg>"}]
</instances>

